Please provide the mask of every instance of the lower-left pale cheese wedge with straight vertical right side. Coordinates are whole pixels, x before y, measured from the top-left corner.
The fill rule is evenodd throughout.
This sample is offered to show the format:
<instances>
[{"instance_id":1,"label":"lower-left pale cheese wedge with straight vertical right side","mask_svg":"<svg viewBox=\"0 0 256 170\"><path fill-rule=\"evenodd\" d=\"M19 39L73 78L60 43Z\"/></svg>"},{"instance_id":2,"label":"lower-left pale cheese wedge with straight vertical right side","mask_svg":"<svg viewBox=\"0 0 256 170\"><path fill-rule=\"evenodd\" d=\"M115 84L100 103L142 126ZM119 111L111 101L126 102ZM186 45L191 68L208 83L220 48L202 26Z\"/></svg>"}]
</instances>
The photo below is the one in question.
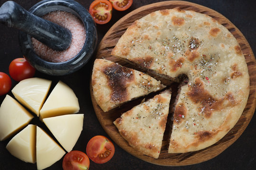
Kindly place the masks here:
<instances>
[{"instance_id":1,"label":"lower-left pale cheese wedge with straight vertical right side","mask_svg":"<svg viewBox=\"0 0 256 170\"><path fill-rule=\"evenodd\" d=\"M7 144L6 149L22 161L36 162L36 125L28 125Z\"/></svg>"}]
</instances>

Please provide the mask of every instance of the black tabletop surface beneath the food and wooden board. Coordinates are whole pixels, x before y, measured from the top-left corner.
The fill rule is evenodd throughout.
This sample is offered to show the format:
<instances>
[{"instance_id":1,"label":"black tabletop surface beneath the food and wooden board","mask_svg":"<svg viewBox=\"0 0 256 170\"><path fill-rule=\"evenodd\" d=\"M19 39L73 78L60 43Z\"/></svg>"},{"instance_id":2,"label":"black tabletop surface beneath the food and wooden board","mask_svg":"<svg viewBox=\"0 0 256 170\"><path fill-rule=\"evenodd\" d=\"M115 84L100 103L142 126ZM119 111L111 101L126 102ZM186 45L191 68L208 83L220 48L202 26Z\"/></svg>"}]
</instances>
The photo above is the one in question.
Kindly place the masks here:
<instances>
[{"instance_id":1,"label":"black tabletop surface beneath the food and wooden board","mask_svg":"<svg viewBox=\"0 0 256 170\"><path fill-rule=\"evenodd\" d=\"M27 10L39 0L15 0ZM77 0L86 9L89 9L93 0ZM151 4L162 0L133 0L133 5L126 11L113 10L112 20L106 25L97 25L98 42L113 24L132 10L143 5ZM254 0L188 0L208 8L212 8L227 17L244 34L254 53L256 51L256 12ZM0 5L5 0L0 0ZM18 31L7 26L0 25L0 71L8 73L9 63L12 59L22 57L19 50ZM85 67L67 76L47 76L40 72L36 76L53 80L53 85L62 80L69 85L76 93L80 113L85 114L84 129L78 139L74 150L85 152L86 144L95 135L107 136L98 122L93 110L90 92L90 69L92 61ZM12 80L12 87L17 82ZM13 96L10 92L9 95ZM0 96L0 102L4 96ZM244 133L237 141L229 146L217 157L199 164L181 167L165 167L153 165L142 161L115 145L115 154L111 161L104 164L96 164L90 161L90 170L255 170L256 169L256 117L254 116ZM39 125L40 126L40 125ZM5 149L9 139L0 142L0 170L36 170L36 164L25 163L11 156ZM62 160L46 170L61 170Z\"/></svg>"}]
</instances>

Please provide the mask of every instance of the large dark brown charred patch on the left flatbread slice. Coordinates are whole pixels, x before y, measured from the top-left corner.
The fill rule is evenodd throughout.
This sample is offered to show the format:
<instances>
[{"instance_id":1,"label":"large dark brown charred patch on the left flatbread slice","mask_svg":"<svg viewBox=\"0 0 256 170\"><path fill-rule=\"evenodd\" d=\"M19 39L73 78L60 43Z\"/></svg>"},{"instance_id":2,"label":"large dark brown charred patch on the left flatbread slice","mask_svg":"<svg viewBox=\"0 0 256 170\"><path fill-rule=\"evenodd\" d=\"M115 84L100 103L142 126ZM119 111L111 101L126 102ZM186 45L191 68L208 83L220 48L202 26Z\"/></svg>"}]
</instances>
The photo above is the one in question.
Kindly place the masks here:
<instances>
[{"instance_id":1,"label":"large dark brown charred patch on the left flatbread slice","mask_svg":"<svg viewBox=\"0 0 256 170\"><path fill-rule=\"evenodd\" d=\"M112 90L111 101L124 102L128 98L127 83L133 81L133 69L112 64L103 68L102 72L107 76L108 85Z\"/></svg>"}]
</instances>

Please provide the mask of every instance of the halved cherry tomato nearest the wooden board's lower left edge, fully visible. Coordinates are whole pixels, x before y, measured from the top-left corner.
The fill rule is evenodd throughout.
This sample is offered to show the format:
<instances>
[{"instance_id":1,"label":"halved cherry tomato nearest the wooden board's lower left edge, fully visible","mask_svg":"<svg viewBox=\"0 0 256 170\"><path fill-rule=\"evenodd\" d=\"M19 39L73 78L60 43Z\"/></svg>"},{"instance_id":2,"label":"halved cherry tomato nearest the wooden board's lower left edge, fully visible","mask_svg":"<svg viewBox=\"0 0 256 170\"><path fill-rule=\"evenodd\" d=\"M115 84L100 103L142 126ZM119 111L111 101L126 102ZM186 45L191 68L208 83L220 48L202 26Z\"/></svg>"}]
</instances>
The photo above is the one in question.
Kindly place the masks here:
<instances>
[{"instance_id":1,"label":"halved cherry tomato nearest the wooden board's lower left edge, fully visible","mask_svg":"<svg viewBox=\"0 0 256 170\"><path fill-rule=\"evenodd\" d=\"M86 153L95 163L105 163L114 155L114 144L105 136L94 136L86 146Z\"/></svg>"}]
</instances>

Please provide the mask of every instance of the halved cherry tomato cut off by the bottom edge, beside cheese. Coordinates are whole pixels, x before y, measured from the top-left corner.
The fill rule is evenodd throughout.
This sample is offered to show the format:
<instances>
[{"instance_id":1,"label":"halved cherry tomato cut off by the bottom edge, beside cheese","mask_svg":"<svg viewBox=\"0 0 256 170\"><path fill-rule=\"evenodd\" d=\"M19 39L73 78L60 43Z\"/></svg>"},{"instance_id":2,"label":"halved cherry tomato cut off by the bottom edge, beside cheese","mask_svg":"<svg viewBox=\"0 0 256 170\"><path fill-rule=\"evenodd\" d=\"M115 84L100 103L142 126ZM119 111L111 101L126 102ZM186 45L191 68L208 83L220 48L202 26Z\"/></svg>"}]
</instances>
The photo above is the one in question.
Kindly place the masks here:
<instances>
[{"instance_id":1,"label":"halved cherry tomato cut off by the bottom edge, beside cheese","mask_svg":"<svg viewBox=\"0 0 256 170\"><path fill-rule=\"evenodd\" d=\"M89 170L90 160L88 156L81 151L71 151L66 153L63 162L63 170Z\"/></svg>"}]
</instances>

